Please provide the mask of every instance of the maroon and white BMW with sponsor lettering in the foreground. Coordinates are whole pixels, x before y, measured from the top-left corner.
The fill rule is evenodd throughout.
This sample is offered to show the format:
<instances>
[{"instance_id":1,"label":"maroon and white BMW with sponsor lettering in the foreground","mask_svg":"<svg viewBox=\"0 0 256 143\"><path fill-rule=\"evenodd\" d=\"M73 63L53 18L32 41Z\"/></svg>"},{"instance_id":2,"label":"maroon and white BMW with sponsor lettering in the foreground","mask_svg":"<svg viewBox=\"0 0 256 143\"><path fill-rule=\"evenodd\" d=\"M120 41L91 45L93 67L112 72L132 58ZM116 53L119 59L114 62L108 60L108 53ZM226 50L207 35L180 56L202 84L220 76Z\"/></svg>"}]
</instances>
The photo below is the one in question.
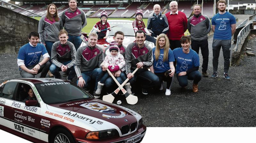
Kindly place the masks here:
<instances>
[{"instance_id":1,"label":"maroon and white BMW with sponsor lettering in the foreground","mask_svg":"<svg viewBox=\"0 0 256 143\"><path fill-rule=\"evenodd\" d=\"M0 84L0 129L50 143L138 143L146 133L138 113L52 78Z\"/></svg>"}]
</instances>

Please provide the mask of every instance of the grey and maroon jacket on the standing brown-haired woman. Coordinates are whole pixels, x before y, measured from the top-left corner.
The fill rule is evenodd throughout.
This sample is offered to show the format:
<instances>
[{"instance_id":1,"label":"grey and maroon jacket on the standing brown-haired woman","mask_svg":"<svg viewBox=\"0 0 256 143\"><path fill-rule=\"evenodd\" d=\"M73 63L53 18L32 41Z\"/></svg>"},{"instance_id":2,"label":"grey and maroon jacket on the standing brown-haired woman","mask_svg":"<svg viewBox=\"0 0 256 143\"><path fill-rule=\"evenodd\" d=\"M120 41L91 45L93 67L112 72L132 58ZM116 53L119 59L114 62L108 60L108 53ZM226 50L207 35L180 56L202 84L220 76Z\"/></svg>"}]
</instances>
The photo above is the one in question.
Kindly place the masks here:
<instances>
[{"instance_id":1,"label":"grey and maroon jacket on the standing brown-haired woman","mask_svg":"<svg viewBox=\"0 0 256 143\"><path fill-rule=\"evenodd\" d=\"M59 41L58 34L60 30L63 29L62 21L59 18L59 21L53 21L43 16L39 20L38 24L38 33L40 36L41 43L45 43L45 41L56 42Z\"/></svg>"}]
</instances>

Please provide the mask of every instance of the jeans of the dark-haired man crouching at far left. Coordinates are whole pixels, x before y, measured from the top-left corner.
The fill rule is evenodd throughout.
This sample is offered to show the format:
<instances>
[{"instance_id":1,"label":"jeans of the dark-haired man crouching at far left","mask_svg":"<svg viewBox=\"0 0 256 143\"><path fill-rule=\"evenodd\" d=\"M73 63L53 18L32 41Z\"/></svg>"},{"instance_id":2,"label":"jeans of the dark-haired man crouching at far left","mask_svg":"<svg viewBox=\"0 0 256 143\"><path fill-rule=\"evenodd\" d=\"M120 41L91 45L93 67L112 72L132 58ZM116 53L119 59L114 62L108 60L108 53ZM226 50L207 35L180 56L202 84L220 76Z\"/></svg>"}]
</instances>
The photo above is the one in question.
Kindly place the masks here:
<instances>
[{"instance_id":1,"label":"jeans of the dark-haired man crouching at far left","mask_svg":"<svg viewBox=\"0 0 256 143\"><path fill-rule=\"evenodd\" d=\"M33 65L33 66L29 66L27 67L28 69L32 69L34 68L36 65ZM37 74L41 73L40 75L40 78L44 78L46 77L48 71L49 71L49 68L51 66L51 63L49 61L47 61L45 64L41 65L39 71L37 72ZM24 77L24 78L35 78L35 75L34 74L30 74L26 71L24 71L23 69L20 69L20 75L21 77Z\"/></svg>"}]
</instances>

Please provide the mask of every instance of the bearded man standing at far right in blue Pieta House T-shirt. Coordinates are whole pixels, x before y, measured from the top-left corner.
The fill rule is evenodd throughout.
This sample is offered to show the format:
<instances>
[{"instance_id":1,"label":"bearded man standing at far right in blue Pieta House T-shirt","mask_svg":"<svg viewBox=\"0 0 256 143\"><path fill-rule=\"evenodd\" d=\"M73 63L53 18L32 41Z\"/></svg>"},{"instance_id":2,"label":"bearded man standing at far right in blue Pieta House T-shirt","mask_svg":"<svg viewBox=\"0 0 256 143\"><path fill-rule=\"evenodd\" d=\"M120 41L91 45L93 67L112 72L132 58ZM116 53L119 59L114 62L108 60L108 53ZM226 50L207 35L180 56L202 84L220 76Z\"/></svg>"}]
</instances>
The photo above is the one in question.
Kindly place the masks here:
<instances>
[{"instance_id":1,"label":"bearded man standing at far right in blue Pieta House T-shirt","mask_svg":"<svg viewBox=\"0 0 256 143\"><path fill-rule=\"evenodd\" d=\"M218 63L220 48L222 47L224 57L224 78L230 80L228 69L230 64L230 49L231 37L236 31L236 18L229 12L226 12L226 1L220 0L217 2L219 13L212 17L212 31L214 32L212 42L212 65L213 74L212 78L218 77Z\"/></svg>"}]
</instances>

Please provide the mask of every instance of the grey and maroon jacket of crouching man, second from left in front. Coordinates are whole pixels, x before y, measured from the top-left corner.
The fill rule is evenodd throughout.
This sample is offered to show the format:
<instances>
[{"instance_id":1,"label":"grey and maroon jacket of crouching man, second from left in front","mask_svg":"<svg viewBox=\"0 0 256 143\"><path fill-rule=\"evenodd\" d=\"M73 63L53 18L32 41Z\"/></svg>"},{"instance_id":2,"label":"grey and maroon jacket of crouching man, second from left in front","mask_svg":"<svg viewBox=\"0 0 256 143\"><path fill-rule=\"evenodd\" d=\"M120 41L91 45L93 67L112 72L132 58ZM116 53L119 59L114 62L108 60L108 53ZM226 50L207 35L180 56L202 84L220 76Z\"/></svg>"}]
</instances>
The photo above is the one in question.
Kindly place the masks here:
<instances>
[{"instance_id":1,"label":"grey and maroon jacket of crouching man, second from left in front","mask_svg":"<svg viewBox=\"0 0 256 143\"><path fill-rule=\"evenodd\" d=\"M66 44L60 44L60 41L55 42L52 45L52 55L51 55L52 63L61 68L61 65L63 65L61 62L70 61L70 63L67 64L68 68L71 68L75 65L75 59L76 59L76 49L74 44L71 42L67 42Z\"/></svg>"}]
</instances>

